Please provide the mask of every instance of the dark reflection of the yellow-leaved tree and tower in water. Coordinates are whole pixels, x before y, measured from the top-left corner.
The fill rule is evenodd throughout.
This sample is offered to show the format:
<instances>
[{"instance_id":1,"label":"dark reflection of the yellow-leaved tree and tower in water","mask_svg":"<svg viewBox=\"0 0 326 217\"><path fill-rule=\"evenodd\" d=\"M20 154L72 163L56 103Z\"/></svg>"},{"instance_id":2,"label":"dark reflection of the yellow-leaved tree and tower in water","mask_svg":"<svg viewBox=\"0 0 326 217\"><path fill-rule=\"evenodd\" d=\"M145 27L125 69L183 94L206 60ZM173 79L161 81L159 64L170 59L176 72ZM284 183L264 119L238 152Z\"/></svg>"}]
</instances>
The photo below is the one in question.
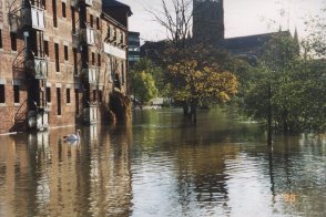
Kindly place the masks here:
<instances>
[{"instance_id":1,"label":"dark reflection of the yellow-leaved tree and tower in water","mask_svg":"<svg viewBox=\"0 0 326 217\"><path fill-rule=\"evenodd\" d=\"M179 147L177 188L183 210L196 205L207 210L221 208L224 214L231 210L225 159L234 158L236 152L231 144Z\"/></svg>"}]
</instances>

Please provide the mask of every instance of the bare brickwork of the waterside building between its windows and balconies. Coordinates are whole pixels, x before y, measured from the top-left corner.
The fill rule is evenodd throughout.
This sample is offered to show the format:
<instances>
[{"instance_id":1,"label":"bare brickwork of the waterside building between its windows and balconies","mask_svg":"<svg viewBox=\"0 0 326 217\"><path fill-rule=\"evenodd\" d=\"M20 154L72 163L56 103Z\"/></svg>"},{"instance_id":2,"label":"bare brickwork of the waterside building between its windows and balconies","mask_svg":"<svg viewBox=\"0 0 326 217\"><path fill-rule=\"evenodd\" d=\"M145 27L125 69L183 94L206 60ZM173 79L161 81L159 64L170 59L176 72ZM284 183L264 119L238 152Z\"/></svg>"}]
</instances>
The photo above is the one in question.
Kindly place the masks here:
<instances>
[{"instance_id":1,"label":"bare brickwork of the waterside building between its windows and balconies","mask_svg":"<svg viewBox=\"0 0 326 217\"><path fill-rule=\"evenodd\" d=\"M20 3L21 1L17 1ZM84 110L84 96L85 96L85 86L86 82L83 84L81 76L81 51L77 54L78 62L78 74L74 73L74 59L73 59L73 44L72 44L72 12L70 0L65 1L65 18L62 16L62 1L57 0L57 18L58 27L53 25L53 8L52 0L47 0L45 6L45 30L43 31L43 39L49 42L49 65L48 65L48 79L45 81L47 86L51 87L51 102L49 103L50 113L49 113L49 124L50 126L61 126L61 125L73 125L75 120L82 120L82 114ZM102 20L101 16L101 0L94 0L94 7L86 8L86 22L91 21L91 16L93 16L93 27L94 29L102 30L102 34L99 34L99 41L95 46L88 46L89 52L89 64L92 62L92 53L94 53L95 64L99 65L98 54L100 53L100 65L101 65L101 79L100 86L90 87L90 99L86 101L91 103L99 104L99 89L102 90L102 104L99 104L99 116L102 116L103 120L106 120L104 113L108 112L109 95L112 92L113 81L111 80L111 66L108 59L108 54L102 52L102 41L103 37L106 35L106 28L111 21ZM0 116L3 118L2 124L0 124L0 133L14 130L14 116L18 114L21 116L27 116L27 103L23 102L28 99L28 84L29 81L26 80L24 71L13 71L14 60L20 61L23 59L23 52L18 56L20 51L24 48L24 41L21 39L17 40L17 52L11 51L11 40L10 40L10 27L8 24L8 11L6 0L0 0L0 29L2 30L2 42L3 49L0 50L0 81L6 81L6 104L0 105ZM79 29L79 10L74 10L75 27ZM99 19L100 27L98 28L96 20ZM123 30L125 31L125 30ZM101 32L101 31L100 31ZM39 32L38 34L42 34ZM126 35L126 31L125 31ZM37 39L35 39L37 40ZM124 40L126 41L126 39ZM55 52L54 43L59 44L59 60L60 60L60 71L55 70ZM69 60L64 60L64 45L68 46ZM79 50L79 48L75 48ZM115 59L115 58L114 58ZM123 60L119 60L121 62ZM124 63L125 64L125 63ZM125 66L126 68L126 66ZM116 72L122 76L121 68L118 68ZM124 75L126 74L126 70ZM13 104L13 81L21 80L21 90L20 90L20 101L21 105ZM124 81L126 81L124 79ZM61 115L58 115L58 100L57 100L57 87L60 86L61 93ZM70 89L70 103L67 103L67 89ZM41 89L41 86L40 86ZM75 90L78 90L78 100L75 99ZM96 97L93 96L93 90L95 90ZM124 92L125 86L122 91ZM78 104L77 104L78 103ZM77 114L77 107L79 108L79 114ZM26 114L21 114L26 112ZM78 117L78 118L77 118Z\"/></svg>"}]
</instances>

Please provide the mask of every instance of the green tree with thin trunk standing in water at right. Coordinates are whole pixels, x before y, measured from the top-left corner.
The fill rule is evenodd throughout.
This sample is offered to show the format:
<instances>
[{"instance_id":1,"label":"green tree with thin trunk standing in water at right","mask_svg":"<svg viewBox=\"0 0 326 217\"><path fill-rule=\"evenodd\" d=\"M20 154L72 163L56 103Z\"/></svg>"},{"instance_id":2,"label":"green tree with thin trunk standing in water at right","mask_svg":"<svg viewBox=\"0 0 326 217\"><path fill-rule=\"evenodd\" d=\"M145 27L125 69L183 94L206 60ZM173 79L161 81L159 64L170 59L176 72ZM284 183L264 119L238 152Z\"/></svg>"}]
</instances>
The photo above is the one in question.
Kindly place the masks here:
<instances>
[{"instance_id":1,"label":"green tree with thin trunk standing in water at right","mask_svg":"<svg viewBox=\"0 0 326 217\"><path fill-rule=\"evenodd\" d=\"M288 87L298 63L296 40L289 32L278 32L266 43L258 64L251 69L245 107L251 117L266 124L268 144L273 123L284 132L294 127Z\"/></svg>"}]
</instances>

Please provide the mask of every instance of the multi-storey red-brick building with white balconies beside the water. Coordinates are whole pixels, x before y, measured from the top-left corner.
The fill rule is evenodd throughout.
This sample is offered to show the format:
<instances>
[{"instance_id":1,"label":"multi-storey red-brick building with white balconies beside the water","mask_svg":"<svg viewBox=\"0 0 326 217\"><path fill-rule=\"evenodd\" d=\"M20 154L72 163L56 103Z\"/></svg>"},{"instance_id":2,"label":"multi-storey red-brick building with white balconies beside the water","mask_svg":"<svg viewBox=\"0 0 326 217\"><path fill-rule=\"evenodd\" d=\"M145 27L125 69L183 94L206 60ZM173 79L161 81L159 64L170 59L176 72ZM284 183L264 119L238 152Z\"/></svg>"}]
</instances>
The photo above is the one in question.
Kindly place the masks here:
<instances>
[{"instance_id":1,"label":"multi-storey red-brick building with white balconies beside the water","mask_svg":"<svg viewBox=\"0 0 326 217\"><path fill-rule=\"evenodd\" d=\"M110 94L126 94L131 10L113 18L105 2L0 0L0 133L109 118Z\"/></svg>"}]
</instances>

